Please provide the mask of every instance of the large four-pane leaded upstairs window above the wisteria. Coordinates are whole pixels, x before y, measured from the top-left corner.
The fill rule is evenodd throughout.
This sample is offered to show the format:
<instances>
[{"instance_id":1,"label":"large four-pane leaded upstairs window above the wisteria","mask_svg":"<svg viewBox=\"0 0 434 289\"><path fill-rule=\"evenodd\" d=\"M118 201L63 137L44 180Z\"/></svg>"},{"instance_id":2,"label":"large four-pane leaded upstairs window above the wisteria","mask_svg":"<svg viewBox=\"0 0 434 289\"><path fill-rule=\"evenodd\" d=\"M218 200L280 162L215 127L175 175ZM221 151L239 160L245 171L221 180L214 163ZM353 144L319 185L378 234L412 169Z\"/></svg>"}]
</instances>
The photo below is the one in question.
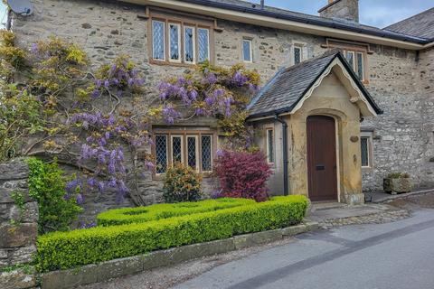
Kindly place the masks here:
<instances>
[{"instance_id":1,"label":"large four-pane leaded upstairs window above the wisteria","mask_svg":"<svg viewBox=\"0 0 434 289\"><path fill-rule=\"evenodd\" d=\"M150 23L151 62L176 65L211 61L211 24L206 26L170 17L151 17Z\"/></svg>"}]
</instances>

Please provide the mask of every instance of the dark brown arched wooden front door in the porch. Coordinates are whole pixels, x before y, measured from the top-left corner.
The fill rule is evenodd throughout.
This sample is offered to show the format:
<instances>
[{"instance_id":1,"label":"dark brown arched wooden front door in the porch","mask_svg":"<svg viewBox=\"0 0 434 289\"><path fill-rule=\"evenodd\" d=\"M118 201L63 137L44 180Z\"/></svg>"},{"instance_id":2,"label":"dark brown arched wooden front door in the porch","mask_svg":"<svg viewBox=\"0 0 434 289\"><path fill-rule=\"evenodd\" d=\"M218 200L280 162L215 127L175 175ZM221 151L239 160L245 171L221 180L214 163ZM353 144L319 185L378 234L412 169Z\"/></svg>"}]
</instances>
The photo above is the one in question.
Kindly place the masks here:
<instances>
[{"instance_id":1,"label":"dark brown arched wooden front door in the porch","mask_svg":"<svg viewBox=\"0 0 434 289\"><path fill-rule=\"evenodd\" d=\"M336 135L333 117L307 117L310 200L337 200Z\"/></svg>"}]
</instances>

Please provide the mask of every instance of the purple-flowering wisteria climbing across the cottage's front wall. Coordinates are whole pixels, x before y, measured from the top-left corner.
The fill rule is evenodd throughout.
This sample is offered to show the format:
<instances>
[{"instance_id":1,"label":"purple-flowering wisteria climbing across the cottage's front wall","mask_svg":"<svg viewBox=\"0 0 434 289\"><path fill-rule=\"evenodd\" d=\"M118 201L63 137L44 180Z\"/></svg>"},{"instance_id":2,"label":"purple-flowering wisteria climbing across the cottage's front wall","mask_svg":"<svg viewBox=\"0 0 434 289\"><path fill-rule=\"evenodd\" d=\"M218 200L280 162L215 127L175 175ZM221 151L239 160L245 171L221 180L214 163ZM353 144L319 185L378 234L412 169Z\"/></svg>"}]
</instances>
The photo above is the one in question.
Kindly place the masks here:
<instances>
[{"instance_id":1,"label":"purple-flowering wisteria climbing across the cottage's front wall","mask_svg":"<svg viewBox=\"0 0 434 289\"><path fill-rule=\"evenodd\" d=\"M233 143L249 143L243 109L259 76L241 65L203 63L152 88L127 55L95 68L78 45L58 37L26 50L14 33L0 36L0 161L55 156L82 171L69 191L115 190L119 200L129 193L143 204L137 173L152 169L153 158L138 162L137 153L152 145L155 122L216 117Z\"/></svg>"}]
</instances>

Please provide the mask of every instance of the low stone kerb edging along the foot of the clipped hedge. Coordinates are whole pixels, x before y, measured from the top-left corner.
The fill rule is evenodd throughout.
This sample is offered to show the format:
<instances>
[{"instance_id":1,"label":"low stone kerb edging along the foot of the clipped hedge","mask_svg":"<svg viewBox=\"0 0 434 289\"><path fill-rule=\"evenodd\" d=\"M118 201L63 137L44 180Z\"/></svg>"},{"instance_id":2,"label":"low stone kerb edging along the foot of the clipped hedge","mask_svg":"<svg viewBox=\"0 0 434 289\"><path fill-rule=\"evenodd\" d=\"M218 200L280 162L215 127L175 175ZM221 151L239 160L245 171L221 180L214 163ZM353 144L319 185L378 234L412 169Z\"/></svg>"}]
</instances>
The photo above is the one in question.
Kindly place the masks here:
<instances>
[{"instance_id":1,"label":"low stone kerb edging along the foot of the clipped hedge","mask_svg":"<svg viewBox=\"0 0 434 289\"><path fill-rule=\"evenodd\" d=\"M172 266L203 256L212 256L288 238L319 228L315 221L299 225L250 233L222 240L174 247L146 255L129 256L99 264L52 271L40 275L42 289L70 289L79 285L107 281L123 275L137 274L160 266Z\"/></svg>"}]
</instances>

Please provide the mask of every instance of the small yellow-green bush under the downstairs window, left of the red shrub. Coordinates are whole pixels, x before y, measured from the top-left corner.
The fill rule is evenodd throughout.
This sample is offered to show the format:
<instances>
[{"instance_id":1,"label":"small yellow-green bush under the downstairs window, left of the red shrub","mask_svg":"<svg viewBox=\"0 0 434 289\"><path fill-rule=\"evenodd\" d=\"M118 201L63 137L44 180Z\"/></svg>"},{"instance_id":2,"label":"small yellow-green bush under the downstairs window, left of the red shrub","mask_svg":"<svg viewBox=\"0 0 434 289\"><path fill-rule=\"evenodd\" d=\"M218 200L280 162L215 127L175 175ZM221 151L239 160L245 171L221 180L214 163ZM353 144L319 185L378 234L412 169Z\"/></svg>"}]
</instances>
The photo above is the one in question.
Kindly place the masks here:
<instances>
[{"instance_id":1,"label":"small yellow-green bush under the downstairs window, left of the red shrub","mask_svg":"<svg viewBox=\"0 0 434 289\"><path fill-rule=\"evenodd\" d=\"M191 167L182 163L175 165L165 173L163 198L165 202L193 201L201 197L202 178Z\"/></svg>"}]
</instances>

